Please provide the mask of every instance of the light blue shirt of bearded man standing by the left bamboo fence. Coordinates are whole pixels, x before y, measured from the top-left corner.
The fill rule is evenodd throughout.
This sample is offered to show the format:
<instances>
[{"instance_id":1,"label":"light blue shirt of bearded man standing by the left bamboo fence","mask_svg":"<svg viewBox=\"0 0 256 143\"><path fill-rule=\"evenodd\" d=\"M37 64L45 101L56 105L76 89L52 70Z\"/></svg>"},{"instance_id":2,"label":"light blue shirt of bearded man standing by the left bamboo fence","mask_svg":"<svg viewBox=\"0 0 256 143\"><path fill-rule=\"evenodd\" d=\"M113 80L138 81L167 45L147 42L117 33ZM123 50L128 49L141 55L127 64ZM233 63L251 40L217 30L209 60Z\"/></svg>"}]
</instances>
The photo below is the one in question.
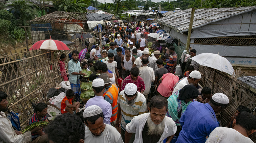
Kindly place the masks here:
<instances>
[{"instance_id":1,"label":"light blue shirt of bearded man standing by the left bamboo fence","mask_svg":"<svg viewBox=\"0 0 256 143\"><path fill-rule=\"evenodd\" d=\"M79 75L72 74L73 72L79 72L82 71L80 62L77 61L76 63L74 62L73 59L71 59L68 63L68 71L69 71L69 82L76 84L76 80L79 79Z\"/></svg>"}]
</instances>

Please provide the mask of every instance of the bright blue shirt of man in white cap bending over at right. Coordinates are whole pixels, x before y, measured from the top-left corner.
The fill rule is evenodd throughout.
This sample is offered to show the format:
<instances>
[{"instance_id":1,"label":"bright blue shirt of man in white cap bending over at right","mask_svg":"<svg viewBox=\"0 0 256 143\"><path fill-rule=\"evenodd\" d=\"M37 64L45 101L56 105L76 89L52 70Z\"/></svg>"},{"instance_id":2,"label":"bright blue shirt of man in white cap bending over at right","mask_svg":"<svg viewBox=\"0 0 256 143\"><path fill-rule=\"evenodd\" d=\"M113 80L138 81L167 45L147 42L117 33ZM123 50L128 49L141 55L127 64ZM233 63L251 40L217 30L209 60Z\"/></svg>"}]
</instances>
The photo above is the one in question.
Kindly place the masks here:
<instances>
[{"instance_id":1,"label":"bright blue shirt of man in white cap bending over at right","mask_svg":"<svg viewBox=\"0 0 256 143\"><path fill-rule=\"evenodd\" d=\"M192 102L182 114L180 123L182 130L176 143L204 143L206 135L219 127L210 104Z\"/></svg>"}]
</instances>

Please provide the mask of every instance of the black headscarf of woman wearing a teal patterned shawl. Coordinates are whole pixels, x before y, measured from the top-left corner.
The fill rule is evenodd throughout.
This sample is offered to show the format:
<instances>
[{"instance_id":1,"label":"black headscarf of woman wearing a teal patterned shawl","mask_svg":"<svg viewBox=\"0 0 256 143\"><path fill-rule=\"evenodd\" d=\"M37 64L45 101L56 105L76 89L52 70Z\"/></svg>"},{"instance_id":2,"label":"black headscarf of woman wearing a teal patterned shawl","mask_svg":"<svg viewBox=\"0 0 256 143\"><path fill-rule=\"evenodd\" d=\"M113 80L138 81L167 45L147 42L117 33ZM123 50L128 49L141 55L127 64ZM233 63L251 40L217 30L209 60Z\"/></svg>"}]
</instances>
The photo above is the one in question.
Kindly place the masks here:
<instances>
[{"instance_id":1,"label":"black headscarf of woman wearing a teal patterned shawl","mask_svg":"<svg viewBox=\"0 0 256 143\"><path fill-rule=\"evenodd\" d=\"M195 99L199 95L197 87L186 85L180 90L179 100Z\"/></svg>"}]
</instances>

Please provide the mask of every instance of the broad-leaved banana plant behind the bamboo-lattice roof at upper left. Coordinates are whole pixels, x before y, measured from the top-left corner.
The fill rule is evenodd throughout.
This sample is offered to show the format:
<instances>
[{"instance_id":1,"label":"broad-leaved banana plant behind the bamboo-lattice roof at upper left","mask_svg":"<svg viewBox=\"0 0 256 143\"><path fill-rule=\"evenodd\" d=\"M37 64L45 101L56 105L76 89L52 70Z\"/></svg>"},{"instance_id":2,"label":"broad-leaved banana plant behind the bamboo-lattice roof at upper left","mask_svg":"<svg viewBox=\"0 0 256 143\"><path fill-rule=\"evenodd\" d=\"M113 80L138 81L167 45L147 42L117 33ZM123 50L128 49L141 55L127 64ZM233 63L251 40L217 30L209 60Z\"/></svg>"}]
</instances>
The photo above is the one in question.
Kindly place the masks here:
<instances>
[{"instance_id":1,"label":"broad-leaved banana plant behind the bamboo-lattice roof at upper left","mask_svg":"<svg viewBox=\"0 0 256 143\"><path fill-rule=\"evenodd\" d=\"M59 11L69 11L69 12L84 12L83 9L88 5L85 4L87 0L63 0L64 3L59 5Z\"/></svg>"}]
</instances>

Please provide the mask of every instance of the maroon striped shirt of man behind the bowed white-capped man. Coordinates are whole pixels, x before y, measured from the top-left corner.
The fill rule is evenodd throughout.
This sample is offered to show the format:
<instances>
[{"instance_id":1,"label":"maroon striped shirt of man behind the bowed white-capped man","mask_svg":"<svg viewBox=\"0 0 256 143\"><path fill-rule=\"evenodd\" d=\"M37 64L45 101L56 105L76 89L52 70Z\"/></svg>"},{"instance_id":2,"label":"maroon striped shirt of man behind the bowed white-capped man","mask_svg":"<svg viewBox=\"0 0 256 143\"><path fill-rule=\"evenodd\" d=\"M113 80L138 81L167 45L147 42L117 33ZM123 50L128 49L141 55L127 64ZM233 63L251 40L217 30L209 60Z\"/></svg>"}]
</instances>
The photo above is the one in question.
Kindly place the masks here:
<instances>
[{"instance_id":1,"label":"maroon striped shirt of man behind the bowed white-capped man","mask_svg":"<svg viewBox=\"0 0 256 143\"><path fill-rule=\"evenodd\" d=\"M141 92L145 90L145 84L144 81L141 77L138 76L137 80L134 81L131 77L131 75L127 76L123 82L122 82L122 87L121 87L121 91L124 90L124 87L126 86L126 84L128 83L133 83L137 86L137 91Z\"/></svg>"}]
</instances>

